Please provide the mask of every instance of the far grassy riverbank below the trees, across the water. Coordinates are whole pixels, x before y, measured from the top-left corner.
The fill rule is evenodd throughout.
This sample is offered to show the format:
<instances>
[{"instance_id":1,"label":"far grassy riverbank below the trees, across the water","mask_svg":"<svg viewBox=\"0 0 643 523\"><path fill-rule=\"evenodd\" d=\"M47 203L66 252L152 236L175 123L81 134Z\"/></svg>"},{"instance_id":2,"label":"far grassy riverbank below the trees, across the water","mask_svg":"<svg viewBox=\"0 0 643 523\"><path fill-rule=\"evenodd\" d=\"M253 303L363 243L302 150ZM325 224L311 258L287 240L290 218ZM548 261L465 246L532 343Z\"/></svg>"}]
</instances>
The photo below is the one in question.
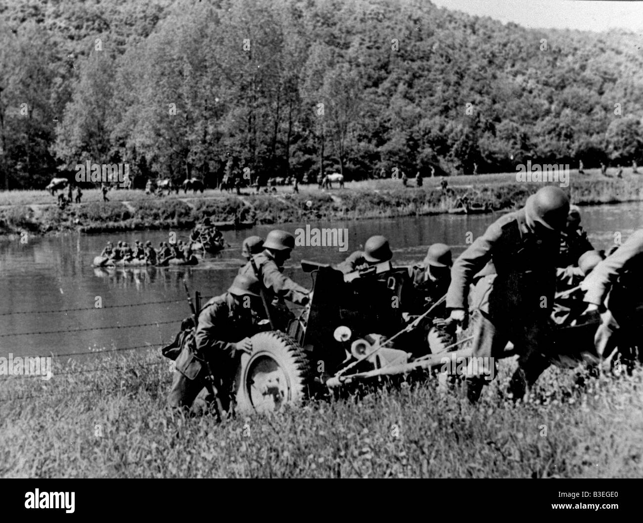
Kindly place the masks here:
<instances>
[{"instance_id":1,"label":"far grassy riverbank below the trees, across the water","mask_svg":"<svg viewBox=\"0 0 643 523\"><path fill-rule=\"evenodd\" d=\"M203 194L158 198L140 190L120 190L111 192L112 201L108 202L100 201L98 190L88 190L86 203L64 210L46 203L53 197L44 191L8 192L0 197L0 235L188 229L204 216L211 216L213 221L237 217L257 224L426 216L453 212L464 197L475 206L500 210L523 205L543 185L518 183L514 173L446 179L446 191L439 187L437 178L426 179L423 187L415 187L413 180L410 187L401 187L401 181L386 179L349 182L343 189L303 186L299 194L292 194L290 187L279 187L274 194L255 195L246 190L236 196L206 190ZM607 178L572 171L570 180L566 190L577 205L643 199L643 176L636 174Z\"/></svg>"}]
</instances>

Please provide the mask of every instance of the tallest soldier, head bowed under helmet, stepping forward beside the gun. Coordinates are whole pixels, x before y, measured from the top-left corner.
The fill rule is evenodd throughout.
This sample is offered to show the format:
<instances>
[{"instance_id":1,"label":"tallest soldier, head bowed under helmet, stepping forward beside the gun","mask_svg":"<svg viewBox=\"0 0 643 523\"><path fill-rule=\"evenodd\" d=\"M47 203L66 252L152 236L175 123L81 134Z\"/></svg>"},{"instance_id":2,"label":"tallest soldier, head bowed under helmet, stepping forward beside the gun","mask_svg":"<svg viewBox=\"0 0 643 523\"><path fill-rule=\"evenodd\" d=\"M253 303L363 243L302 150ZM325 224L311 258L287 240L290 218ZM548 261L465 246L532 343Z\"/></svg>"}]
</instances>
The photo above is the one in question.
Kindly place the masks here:
<instances>
[{"instance_id":1,"label":"tallest soldier, head bowed under helmet, stepping forward beside the gun","mask_svg":"<svg viewBox=\"0 0 643 523\"><path fill-rule=\"evenodd\" d=\"M541 351L547 347L559 233L568 212L569 200L563 190L543 187L523 208L496 220L455 261L446 307L451 309L449 320L462 326L466 325L469 284L488 262L493 264L491 275L495 273L488 289L476 289L488 299L480 307L466 372L467 397L472 403L480 397L484 383L493 379L489 365L495 369L493 358L502 354L509 341L520 354L510 387L514 399L522 398L548 367Z\"/></svg>"}]
</instances>

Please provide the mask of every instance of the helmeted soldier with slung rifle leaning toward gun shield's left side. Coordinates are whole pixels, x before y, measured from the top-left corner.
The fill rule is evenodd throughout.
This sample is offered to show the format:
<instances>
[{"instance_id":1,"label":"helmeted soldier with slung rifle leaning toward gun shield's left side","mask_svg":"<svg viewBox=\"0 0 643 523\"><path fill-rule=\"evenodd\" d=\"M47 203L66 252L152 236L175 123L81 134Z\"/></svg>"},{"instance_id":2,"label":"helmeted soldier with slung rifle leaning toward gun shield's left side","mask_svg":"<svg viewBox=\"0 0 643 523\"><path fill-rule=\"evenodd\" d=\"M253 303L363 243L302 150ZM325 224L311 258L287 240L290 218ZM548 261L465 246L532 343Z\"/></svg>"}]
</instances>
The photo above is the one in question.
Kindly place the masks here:
<instances>
[{"instance_id":1,"label":"helmeted soldier with slung rifle leaning toward gun shield's left side","mask_svg":"<svg viewBox=\"0 0 643 523\"><path fill-rule=\"evenodd\" d=\"M311 291L285 277L284 262L290 258L294 248L294 236L282 230L272 230L264 241L264 250L253 255L239 275L258 276L263 284L266 300L275 306L274 321L276 328L285 331L287 322L293 318L284 299L298 305L309 302ZM256 271L255 271L256 268Z\"/></svg>"}]
</instances>

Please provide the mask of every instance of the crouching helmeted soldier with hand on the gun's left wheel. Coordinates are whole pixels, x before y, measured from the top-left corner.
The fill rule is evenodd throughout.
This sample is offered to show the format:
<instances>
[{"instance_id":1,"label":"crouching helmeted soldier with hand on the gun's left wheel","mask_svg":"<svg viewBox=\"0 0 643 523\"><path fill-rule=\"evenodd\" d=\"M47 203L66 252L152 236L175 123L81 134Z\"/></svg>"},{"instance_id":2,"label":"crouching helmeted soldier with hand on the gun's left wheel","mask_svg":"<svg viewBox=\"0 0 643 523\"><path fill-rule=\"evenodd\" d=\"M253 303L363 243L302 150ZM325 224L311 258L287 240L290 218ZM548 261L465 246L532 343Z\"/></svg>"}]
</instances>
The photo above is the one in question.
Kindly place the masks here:
<instances>
[{"instance_id":1,"label":"crouching helmeted soldier with hand on the gun's left wheel","mask_svg":"<svg viewBox=\"0 0 643 523\"><path fill-rule=\"evenodd\" d=\"M252 353L250 338L260 330L258 320L263 317L263 307L259 292L257 278L237 275L226 293L213 297L199 311L192 351L208 362L217 390L208 390L208 366L190 358L192 351L186 345L176 360L168 396L170 407L188 407L192 414L202 414L219 399L225 410L231 410L232 383L240 355Z\"/></svg>"}]
</instances>

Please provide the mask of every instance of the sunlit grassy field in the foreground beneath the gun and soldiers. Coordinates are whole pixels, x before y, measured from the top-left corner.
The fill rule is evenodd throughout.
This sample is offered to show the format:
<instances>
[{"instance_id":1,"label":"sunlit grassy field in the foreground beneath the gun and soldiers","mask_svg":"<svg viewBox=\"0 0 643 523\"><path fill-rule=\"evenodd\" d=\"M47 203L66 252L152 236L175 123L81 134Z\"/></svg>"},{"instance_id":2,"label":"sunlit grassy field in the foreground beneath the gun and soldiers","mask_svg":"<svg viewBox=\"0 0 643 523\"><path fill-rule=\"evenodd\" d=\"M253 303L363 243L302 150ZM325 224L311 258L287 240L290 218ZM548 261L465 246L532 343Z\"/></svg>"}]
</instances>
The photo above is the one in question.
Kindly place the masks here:
<instances>
[{"instance_id":1,"label":"sunlit grassy field in the foreground beneath the gun and soldiers","mask_svg":"<svg viewBox=\"0 0 643 523\"><path fill-rule=\"evenodd\" d=\"M475 407L434 378L217 425L165 407L158 351L54 362L50 381L0 381L0 476L643 476L641 369L582 386L548 369L514 404L513 366L500 363Z\"/></svg>"}]
</instances>

